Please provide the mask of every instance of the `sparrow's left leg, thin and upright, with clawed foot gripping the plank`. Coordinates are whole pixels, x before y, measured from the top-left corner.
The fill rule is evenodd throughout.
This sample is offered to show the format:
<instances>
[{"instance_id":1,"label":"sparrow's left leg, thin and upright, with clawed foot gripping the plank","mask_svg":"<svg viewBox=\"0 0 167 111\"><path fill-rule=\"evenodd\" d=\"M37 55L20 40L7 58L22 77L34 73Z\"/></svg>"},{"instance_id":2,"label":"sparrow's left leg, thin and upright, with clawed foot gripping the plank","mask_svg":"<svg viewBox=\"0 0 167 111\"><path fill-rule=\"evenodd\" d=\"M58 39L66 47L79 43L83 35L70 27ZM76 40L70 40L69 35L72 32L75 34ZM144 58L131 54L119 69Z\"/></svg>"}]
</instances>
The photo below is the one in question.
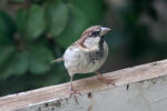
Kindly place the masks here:
<instances>
[{"instance_id":1,"label":"sparrow's left leg, thin and upright, with clawed foot gripping the plank","mask_svg":"<svg viewBox=\"0 0 167 111\"><path fill-rule=\"evenodd\" d=\"M71 89L70 89L70 98L73 95L73 98L75 98L75 100L76 100L76 103L78 104L78 100L77 100L76 94L80 94L80 92L77 92L77 91L73 89L72 79L73 79L73 77L70 75L70 87L71 87Z\"/></svg>"}]
</instances>

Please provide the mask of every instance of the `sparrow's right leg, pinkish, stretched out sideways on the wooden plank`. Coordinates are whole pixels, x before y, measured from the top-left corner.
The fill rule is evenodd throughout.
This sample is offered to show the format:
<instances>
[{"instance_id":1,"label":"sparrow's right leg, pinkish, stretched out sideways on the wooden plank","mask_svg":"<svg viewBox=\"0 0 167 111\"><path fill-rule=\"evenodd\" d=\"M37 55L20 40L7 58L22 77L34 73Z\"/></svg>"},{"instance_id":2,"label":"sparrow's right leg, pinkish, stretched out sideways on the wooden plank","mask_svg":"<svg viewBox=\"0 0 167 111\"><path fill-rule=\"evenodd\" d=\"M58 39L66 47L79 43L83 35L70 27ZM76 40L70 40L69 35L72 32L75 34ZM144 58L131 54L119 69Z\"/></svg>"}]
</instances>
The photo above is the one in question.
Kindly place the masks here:
<instances>
[{"instance_id":1,"label":"sparrow's right leg, pinkish, stretched out sideways on the wooden plank","mask_svg":"<svg viewBox=\"0 0 167 111\"><path fill-rule=\"evenodd\" d=\"M107 79L102 74L100 74L98 71L96 71L96 73L98 74L98 79L100 81L106 82L107 84L116 85L115 84L116 79Z\"/></svg>"}]
</instances>

